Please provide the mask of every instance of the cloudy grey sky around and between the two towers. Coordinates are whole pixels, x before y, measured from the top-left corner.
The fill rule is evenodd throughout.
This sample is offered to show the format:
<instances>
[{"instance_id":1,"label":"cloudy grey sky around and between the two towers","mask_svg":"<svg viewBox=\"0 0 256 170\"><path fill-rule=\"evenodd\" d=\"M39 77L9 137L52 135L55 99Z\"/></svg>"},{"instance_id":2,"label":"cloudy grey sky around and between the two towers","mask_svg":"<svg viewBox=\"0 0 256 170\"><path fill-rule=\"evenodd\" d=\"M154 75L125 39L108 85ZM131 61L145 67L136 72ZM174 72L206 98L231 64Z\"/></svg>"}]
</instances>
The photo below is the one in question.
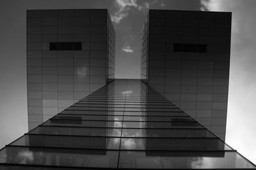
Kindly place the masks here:
<instances>
[{"instance_id":1,"label":"cloudy grey sky around and between the two towers","mask_svg":"<svg viewBox=\"0 0 256 170\"><path fill-rule=\"evenodd\" d=\"M232 12L226 143L256 164L256 1L0 1L0 148L28 132L26 10L108 8L116 31L116 78L140 78L140 35L148 9Z\"/></svg>"}]
</instances>

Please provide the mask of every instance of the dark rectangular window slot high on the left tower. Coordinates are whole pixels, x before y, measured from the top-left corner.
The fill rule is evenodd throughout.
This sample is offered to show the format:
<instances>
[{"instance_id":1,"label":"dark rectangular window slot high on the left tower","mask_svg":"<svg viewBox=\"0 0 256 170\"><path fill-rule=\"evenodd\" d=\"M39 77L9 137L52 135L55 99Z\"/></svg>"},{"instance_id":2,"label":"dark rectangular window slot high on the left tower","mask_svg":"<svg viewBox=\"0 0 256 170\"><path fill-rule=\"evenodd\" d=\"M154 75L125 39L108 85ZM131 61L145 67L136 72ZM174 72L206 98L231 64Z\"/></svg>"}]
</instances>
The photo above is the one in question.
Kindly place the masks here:
<instances>
[{"instance_id":1,"label":"dark rectangular window slot high on the left tower","mask_svg":"<svg viewBox=\"0 0 256 170\"><path fill-rule=\"evenodd\" d=\"M82 50L81 42L51 42L50 50Z\"/></svg>"}]
</instances>

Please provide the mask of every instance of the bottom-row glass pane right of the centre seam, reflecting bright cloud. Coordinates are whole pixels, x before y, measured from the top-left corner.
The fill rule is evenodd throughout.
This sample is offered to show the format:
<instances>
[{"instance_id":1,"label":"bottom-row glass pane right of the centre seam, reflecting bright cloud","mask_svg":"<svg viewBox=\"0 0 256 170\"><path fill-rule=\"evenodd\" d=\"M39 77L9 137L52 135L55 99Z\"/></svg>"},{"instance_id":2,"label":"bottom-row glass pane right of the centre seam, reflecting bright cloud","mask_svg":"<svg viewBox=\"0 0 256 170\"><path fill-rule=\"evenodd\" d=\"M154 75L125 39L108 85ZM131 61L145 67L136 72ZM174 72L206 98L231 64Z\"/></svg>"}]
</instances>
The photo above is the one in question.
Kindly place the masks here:
<instances>
[{"instance_id":1,"label":"bottom-row glass pane right of the centre seam, reflecting bright cloud","mask_svg":"<svg viewBox=\"0 0 256 170\"><path fill-rule=\"evenodd\" d=\"M127 162L136 162L134 164ZM212 164L209 164L212 162ZM252 168L236 152L120 152L120 168Z\"/></svg>"}]
</instances>

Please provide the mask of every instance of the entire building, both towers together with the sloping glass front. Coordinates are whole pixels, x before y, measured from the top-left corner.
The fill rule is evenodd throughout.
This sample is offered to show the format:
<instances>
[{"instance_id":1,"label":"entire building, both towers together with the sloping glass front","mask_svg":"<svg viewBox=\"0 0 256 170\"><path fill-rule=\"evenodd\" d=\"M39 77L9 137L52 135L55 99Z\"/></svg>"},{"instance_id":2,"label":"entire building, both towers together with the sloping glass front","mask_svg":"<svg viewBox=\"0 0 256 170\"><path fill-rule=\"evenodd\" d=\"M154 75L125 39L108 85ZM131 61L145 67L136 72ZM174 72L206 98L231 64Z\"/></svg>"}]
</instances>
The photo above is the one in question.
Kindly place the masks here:
<instances>
[{"instance_id":1,"label":"entire building, both towers together with the sloping glass front","mask_svg":"<svg viewBox=\"0 0 256 170\"><path fill-rule=\"evenodd\" d=\"M125 80L108 10L27 12L30 131L0 169L256 168L224 142L231 13L149 10Z\"/></svg>"}]
</instances>

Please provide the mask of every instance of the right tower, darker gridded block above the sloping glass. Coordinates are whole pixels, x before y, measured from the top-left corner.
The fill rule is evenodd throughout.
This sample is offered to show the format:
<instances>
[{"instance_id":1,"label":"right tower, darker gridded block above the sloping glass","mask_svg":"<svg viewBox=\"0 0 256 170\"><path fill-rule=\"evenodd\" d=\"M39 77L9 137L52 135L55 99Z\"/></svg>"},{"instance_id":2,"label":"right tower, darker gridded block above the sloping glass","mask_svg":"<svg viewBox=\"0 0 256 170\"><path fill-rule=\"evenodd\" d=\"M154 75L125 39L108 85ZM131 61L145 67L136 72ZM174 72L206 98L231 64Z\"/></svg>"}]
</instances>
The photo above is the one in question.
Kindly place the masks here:
<instances>
[{"instance_id":1,"label":"right tower, darker gridded block above the sloping glass","mask_svg":"<svg viewBox=\"0 0 256 170\"><path fill-rule=\"evenodd\" d=\"M149 10L141 79L225 140L231 13Z\"/></svg>"}]
</instances>

